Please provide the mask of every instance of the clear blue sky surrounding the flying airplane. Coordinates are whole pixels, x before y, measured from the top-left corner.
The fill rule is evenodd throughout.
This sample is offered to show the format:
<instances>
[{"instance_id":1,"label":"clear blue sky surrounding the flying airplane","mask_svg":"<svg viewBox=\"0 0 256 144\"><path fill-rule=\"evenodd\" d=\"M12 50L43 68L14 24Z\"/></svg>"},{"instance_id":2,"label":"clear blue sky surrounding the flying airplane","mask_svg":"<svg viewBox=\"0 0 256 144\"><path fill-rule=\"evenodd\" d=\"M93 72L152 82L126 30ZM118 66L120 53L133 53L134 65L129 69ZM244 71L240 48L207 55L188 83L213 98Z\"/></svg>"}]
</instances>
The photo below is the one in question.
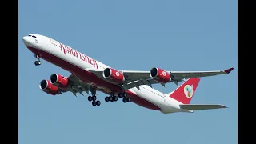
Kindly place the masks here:
<instances>
[{"instance_id":1,"label":"clear blue sky surrounding the flying airplane","mask_svg":"<svg viewBox=\"0 0 256 144\"><path fill-rule=\"evenodd\" d=\"M237 1L76 0L19 2L19 143L237 143ZM34 54L22 37L43 34L118 70L225 70L202 78L191 103L228 109L162 114L134 103L91 106L71 93L39 90L70 73ZM154 88L169 93L174 83Z\"/></svg>"}]
</instances>

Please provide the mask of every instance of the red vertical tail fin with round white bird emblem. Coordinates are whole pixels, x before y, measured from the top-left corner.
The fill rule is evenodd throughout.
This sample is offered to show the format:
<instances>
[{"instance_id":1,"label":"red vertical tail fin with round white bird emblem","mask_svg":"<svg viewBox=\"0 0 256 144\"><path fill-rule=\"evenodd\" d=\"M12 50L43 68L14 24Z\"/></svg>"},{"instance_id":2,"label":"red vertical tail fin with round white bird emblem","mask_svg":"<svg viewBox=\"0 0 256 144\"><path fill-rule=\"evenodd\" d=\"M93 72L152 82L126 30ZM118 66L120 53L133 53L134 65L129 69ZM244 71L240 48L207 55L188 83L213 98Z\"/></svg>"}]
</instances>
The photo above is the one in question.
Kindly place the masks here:
<instances>
[{"instance_id":1,"label":"red vertical tail fin with round white bird emblem","mask_svg":"<svg viewBox=\"0 0 256 144\"><path fill-rule=\"evenodd\" d=\"M183 104L189 104L195 90L198 87L198 83L200 82L200 78L190 78L186 82L182 83L181 86L178 86L174 92L170 94L170 98L174 98L178 102L182 102Z\"/></svg>"}]
</instances>

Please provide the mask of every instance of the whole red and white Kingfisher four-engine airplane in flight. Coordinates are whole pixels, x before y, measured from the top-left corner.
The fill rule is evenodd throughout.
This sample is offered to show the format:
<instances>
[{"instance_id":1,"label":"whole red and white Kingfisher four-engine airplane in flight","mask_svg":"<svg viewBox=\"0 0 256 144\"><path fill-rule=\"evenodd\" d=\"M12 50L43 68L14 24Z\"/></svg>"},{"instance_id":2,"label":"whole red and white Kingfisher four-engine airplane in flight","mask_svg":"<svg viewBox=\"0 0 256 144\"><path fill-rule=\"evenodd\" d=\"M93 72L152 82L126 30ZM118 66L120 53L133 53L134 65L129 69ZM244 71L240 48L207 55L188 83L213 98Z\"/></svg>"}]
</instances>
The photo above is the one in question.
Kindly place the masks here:
<instances>
[{"instance_id":1,"label":"whole red and white Kingfisher four-engine airplane in flight","mask_svg":"<svg viewBox=\"0 0 256 144\"><path fill-rule=\"evenodd\" d=\"M41 65L40 58L50 62L71 74L51 74L50 79L42 80L39 88L51 95L68 91L77 96L86 92L88 101L93 106L100 106L97 92L107 94L106 102L134 102L138 106L150 110L158 110L163 114L176 112L193 113L194 110L210 110L226 108L222 105L190 104L197 89L200 78L219 74L230 74L233 67L227 70L212 71L167 71L153 67L149 71L116 70L106 66L86 54L66 46L53 38L42 34L29 34L22 38L25 46L34 53L36 66ZM152 85L174 82L178 88L168 94L155 90ZM180 86L178 82L183 82Z\"/></svg>"}]
</instances>

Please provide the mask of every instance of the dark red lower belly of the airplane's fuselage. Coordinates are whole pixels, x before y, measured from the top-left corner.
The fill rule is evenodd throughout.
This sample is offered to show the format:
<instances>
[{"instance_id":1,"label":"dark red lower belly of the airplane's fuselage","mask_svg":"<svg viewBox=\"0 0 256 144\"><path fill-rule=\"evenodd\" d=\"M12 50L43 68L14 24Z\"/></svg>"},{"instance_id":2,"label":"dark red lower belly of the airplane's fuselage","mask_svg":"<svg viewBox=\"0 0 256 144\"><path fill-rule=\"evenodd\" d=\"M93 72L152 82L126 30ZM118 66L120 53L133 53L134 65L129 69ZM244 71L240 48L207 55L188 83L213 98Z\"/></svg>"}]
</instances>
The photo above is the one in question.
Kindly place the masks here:
<instances>
[{"instance_id":1,"label":"dark red lower belly of the airplane's fuselage","mask_svg":"<svg viewBox=\"0 0 256 144\"><path fill-rule=\"evenodd\" d=\"M64 70L70 71L70 73L75 74L79 79L83 82L93 82L95 85L106 87L107 89L113 90L114 92L122 92L123 90L110 82L104 81L102 78L98 78L95 74L90 73L89 71L82 70L78 66L74 66L70 62L66 62L65 60L54 56L53 54L49 54L45 51L35 49L33 47L27 47L34 54L39 54L41 58L46 61L61 67ZM109 94L106 91L103 91L105 94ZM139 106L146 107L151 110L161 110L158 106L155 106L153 103L146 101L143 98L138 97L138 95L127 90L127 94L132 99L132 102L136 103Z\"/></svg>"}]
</instances>

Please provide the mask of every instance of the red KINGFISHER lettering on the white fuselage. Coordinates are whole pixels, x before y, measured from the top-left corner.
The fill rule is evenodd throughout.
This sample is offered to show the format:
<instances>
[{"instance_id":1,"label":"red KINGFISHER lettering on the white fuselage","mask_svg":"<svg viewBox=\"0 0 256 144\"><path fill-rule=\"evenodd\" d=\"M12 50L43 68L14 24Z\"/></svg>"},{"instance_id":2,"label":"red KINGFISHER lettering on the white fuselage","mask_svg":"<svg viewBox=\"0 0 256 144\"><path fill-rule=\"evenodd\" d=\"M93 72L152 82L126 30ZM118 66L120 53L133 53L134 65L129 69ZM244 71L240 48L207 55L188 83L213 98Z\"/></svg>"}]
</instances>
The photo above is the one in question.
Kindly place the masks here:
<instances>
[{"instance_id":1,"label":"red KINGFISHER lettering on the white fuselage","mask_svg":"<svg viewBox=\"0 0 256 144\"><path fill-rule=\"evenodd\" d=\"M71 54L73 55L74 57L77 57L78 58L78 54L80 55L80 59L82 61L85 61L87 63L90 63L92 66L96 67L98 69L98 63L96 60L94 60L93 58L90 58L80 52L78 52L77 50L73 50L71 47L69 46L66 46L64 44L62 44L61 42L59 42L60 46L61 46L61 51L63 51L63 53L66 55L66 54Z\"/></svg>"}]
</instances>

